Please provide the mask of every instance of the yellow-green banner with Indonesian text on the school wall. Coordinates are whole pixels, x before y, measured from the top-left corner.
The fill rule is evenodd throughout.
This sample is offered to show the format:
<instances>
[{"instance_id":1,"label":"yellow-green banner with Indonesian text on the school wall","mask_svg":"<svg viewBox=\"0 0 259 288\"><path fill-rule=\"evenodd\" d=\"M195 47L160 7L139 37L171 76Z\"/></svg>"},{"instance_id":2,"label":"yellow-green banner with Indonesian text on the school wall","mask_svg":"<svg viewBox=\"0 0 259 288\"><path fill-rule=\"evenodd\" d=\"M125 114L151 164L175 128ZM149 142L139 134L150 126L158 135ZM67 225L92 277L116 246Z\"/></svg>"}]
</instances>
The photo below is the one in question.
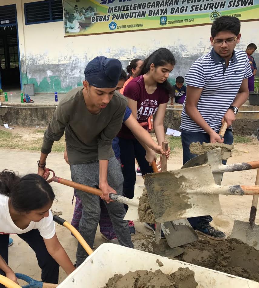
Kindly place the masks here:
<instances>
[{"instance_id":1,"label":"yellow-green banner with Indonesian text on the school wall","mask_svg":"<svg viewBox=\"0 0 259 288\"><path fill-rule=\"evenodd\" d=\"M210 24L223 15L259 19L259 0L64 0L64 9L65 36Z\"/></svg>"}]
</instances>

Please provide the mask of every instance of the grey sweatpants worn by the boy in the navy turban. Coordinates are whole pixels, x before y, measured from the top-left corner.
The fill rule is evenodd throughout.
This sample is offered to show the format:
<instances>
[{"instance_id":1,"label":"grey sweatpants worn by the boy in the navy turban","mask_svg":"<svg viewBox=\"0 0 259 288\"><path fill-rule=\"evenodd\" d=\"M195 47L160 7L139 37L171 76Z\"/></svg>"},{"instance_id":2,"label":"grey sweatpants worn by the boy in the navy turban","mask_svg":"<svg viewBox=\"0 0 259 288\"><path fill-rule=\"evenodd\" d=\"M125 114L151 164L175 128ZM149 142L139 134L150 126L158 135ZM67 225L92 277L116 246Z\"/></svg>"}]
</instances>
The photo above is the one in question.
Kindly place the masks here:
<instances>
[{"instance_id":1,"label":"grey sweatpants worn by the boy in the navy turban","mask_svg":"<svg viewBox=\"0 0 259 288\"><path fill-rule=\"evenodd\" d=\"M70 170L72 181L99 188L99 162L71 165ZM122 195L123 176L121 164L115 157L110 158L107 174L108 184L119 195ZM83 203L79 233L92 248L100 219L100 197L77 189L76 194ZM123 220L126 213L123 204L118 202L110 202L109 204L105 202L105 204L120 245L133 248L128 221ZM88 254L84 248L78 243L76 266L78 267L87 256Z\"/></svg>"}]
</instances>

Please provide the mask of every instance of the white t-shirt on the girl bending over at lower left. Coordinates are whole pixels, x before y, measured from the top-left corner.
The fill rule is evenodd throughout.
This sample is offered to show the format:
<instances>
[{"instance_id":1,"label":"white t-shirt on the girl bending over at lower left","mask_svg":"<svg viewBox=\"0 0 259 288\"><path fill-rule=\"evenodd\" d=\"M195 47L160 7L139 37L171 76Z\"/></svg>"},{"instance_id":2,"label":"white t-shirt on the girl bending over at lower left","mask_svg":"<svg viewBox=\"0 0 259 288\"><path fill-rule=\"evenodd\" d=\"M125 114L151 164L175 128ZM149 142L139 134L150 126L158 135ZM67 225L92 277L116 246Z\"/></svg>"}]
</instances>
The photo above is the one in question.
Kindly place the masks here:
<instances>
[{"instance_id":1,"label":"white t-shirt on the girl bending over at lower left","mask_svg":"<svg viewBox=\"0 0 259 288\"><path fill-rule=\"evenodd\" d=\"M32 229L38 229L44 239L51 239L55 235L55 223L50 210L48 217L44 217L40 222L31 221L24 230L18 228L12 221L8 199L9 197L0 194L0 234L23 234Z\"/></svg>"}]
</instances>

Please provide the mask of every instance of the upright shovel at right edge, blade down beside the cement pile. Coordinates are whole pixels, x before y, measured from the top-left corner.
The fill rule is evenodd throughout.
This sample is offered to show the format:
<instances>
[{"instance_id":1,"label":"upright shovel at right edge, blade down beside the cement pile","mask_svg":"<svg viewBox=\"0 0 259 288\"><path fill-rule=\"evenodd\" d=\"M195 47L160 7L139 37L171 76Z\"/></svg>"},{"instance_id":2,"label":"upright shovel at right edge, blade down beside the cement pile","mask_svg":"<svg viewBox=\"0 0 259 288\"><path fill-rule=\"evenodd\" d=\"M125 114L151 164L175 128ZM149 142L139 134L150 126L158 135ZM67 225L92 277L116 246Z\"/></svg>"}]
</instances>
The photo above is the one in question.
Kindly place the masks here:
<instances>
[{"instance_id":1,"label":"upright shovel at right edge, blade down beside the cement pile","mask_svg":"<svg viewBox=\"0 0 259 288\"><path fill-rule=\"evenodd\" d=\"M259 185L259 169L257 169L255 185ZM235 220L230 238L237 238L238 240L241 240L244 243L253 246L255 249L259 250L259 226L254 224L257 204L258 196L253 196L249 222Z\"/></svg>"}]
</instances>

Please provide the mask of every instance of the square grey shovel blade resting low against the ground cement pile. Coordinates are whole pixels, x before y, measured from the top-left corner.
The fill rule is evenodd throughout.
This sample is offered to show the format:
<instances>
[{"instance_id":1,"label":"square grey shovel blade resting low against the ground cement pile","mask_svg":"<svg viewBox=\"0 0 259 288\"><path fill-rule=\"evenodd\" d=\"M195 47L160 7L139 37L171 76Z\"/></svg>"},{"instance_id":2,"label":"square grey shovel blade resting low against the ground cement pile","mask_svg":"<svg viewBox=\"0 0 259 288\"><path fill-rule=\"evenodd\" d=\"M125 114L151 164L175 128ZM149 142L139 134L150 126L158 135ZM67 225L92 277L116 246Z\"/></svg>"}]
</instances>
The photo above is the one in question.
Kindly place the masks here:
<instances>
[{"instance_id":1,"label":"square grey shovel blade resting low against the ground cement pile","mask_svg":"<svg viewBox=\"0 0 259 288\"><path fill-rule=\"evenodd\" d=\"M187 219L164 222L161 225L168 245L175 248L198 240Z\"/></svg>"}]
</instances>

